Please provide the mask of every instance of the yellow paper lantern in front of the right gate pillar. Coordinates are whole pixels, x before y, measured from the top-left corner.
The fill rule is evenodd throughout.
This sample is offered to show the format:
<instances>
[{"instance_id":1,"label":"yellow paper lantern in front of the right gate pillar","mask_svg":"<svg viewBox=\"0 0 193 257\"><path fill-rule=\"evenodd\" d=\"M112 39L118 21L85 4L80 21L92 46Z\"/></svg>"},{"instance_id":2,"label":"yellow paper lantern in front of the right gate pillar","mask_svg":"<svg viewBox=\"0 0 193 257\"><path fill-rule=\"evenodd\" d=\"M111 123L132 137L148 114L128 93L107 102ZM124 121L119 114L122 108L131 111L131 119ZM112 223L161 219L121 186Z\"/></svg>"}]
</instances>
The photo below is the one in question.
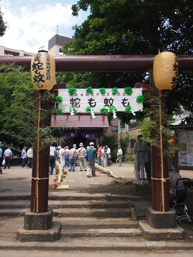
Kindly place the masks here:
<instances>
[{"instance_id":1,"label":"yellow paper lantern in front of the right gate pillar","mask_svg":"<svg viewBox=\"0 0 193 257\"><path fill-rule=\"evenodd\" d=\"M178 58L172 52L156 55L153 62L154 84L159 90L171 90L178 80Z\"/></svg>"}]
</instances>

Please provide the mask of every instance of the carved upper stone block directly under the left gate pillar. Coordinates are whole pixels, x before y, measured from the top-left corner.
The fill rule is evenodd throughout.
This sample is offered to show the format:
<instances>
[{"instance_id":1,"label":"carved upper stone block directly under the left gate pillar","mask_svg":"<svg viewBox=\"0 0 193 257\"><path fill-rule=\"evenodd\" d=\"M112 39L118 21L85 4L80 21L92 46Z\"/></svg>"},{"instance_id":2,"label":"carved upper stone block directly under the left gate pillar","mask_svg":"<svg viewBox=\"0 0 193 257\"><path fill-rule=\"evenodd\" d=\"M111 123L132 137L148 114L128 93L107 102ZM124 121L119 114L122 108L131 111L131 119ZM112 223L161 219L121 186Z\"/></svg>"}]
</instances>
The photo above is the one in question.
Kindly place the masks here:
<instances>
[{"instance_id":1,"label":"carved upper stone block directly under the left gate pillar","mask_svg":"<svg viewBox=\"0 0 193 257\"><path fill-rule=\"evenodd\" d=\"M47 230L52 226L52 209L47 212L33 213L26 212L24 214L25 230Z\"/></svg>"}]
</instances>

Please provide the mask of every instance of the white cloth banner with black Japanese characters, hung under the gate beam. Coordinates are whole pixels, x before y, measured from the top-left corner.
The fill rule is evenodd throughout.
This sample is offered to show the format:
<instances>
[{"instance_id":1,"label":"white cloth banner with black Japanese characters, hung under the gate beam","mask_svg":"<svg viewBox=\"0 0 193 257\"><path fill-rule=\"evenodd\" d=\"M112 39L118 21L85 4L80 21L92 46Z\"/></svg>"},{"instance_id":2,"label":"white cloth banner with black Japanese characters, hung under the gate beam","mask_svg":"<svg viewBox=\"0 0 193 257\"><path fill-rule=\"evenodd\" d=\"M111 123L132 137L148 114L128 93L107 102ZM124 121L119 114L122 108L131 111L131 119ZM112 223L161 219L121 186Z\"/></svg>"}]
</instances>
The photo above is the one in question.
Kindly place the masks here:
<instances>
[{"instance_id":1,"label":"white cloth banner with black Japanese characters, hung under the gate beam","mask_svg":"<svg viewBox=\"0 0 193 257\"><path fill-rule=\"evenodd\" d=\"M92 107L94 113L100 112L100 109L115 106L117 112L125 112L125 107L131 105L132 111L140 112L143 110L143 104L137 103L137 96L142 95L142 88L132 88L131 95L124 92L124 88L118 88L117 94L112 94L111 88L106 88L106 93L101 94L99 88L93 89L93 94L87 94L86 88L76 89L76 93L70 95L68 89L58 89L58 96L62 96L63 100L58 104L58 108L62 108L64 113L69 112L70 107L74 107L78 113L86 112L86 107Z\"/></svg>"}]
</instances>

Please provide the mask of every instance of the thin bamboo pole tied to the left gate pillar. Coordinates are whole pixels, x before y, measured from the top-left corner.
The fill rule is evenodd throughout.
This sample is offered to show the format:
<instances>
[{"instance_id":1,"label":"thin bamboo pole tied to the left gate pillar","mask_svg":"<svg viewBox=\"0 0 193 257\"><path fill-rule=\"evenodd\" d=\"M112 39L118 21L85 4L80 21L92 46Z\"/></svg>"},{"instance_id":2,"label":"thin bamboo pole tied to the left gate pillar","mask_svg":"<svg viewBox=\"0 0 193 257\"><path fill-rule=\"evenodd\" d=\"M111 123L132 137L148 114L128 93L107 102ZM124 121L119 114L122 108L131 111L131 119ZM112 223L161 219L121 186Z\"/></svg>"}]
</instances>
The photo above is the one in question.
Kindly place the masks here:
<instances>
[{"instance_id":1,"label":"thin bamboo pole tied to the left gate pillar","mask_svg":"<svg viewBox=\"0 0 193 257\"><path fill-rule=\"evenodd\" d=\"M40 151L40 113L41 113L41 92L39 91L38 104L38 144L37 144L37 178L39 178L39 151ZM39 180L36 179L36 213L39 213Z\"/></svg>"}]
</instances>

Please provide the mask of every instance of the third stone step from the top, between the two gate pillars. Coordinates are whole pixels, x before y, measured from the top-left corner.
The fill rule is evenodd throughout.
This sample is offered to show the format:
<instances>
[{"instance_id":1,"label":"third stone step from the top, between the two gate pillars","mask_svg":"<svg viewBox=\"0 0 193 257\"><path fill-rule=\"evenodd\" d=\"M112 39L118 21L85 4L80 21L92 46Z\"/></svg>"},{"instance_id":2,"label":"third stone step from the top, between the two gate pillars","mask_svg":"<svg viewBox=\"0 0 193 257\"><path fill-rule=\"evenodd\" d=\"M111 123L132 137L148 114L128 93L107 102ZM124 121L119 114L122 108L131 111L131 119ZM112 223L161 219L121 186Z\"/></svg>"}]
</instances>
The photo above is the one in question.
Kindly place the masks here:
<instances>
[{"instance_id":1,"label":"third stone step from the top, between the two gate pillars","mask_svg":"<svg viewBox=\"0 0 193 257\"><path fill-rule=\"evenodd\" d=\"M60 215L59 215L60 211ZM57 213L57 215L54 215ZM131 211L130 208L128 209L118 209L118 208L111 208L109 209L53 209L53 216L59 217L130 217Z\"/></svg>"}]
</instances>

